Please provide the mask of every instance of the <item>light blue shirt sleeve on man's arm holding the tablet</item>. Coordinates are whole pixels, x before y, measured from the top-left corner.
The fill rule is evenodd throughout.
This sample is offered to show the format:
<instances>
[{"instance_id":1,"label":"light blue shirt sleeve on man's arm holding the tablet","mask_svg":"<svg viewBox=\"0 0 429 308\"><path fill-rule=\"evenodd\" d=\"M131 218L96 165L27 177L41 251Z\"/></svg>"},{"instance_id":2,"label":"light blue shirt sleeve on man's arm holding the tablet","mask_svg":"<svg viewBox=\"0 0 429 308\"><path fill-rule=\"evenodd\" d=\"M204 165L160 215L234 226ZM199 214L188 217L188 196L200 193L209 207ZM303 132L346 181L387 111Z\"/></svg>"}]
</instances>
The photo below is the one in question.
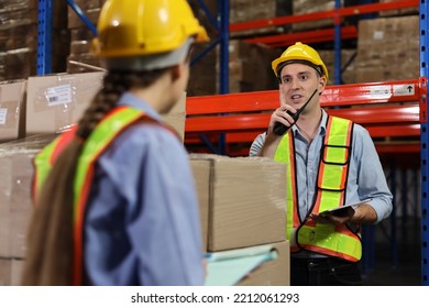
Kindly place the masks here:
<instances>
[{"instance_id":1,"label":"light blue shirt sleeve on man's arm holding the tablet","mask_svg":"<svg viewBox=\"0 0 429 308\"><path fill-rule=\"evenodd\" d=\"M387 218L393 209L393 195L388 189L386 176L374 142L367 130L354 124L353 160L358 166L360 199L372 198L370 205L377 213L377 221Z\"/></svg>"}]
</instances>

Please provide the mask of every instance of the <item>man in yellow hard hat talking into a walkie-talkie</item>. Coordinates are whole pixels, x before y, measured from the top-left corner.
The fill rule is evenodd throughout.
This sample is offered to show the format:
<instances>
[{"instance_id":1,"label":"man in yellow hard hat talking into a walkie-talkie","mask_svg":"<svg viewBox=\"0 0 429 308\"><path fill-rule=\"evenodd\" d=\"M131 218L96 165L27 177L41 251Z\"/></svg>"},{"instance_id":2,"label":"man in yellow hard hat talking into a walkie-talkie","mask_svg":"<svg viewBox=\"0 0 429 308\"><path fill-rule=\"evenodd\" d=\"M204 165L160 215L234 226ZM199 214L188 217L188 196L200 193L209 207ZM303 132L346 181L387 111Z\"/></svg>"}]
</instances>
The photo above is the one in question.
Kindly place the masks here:
<instances>
[{"instance_id":1,"label":"man in yellow hard hat talking into a walkie-talkie","mask_svg":"<svg viewBox=\"0 0 429 308\"><path fill-rule=\"evenodd\" d=\"M393 200L374 143L363 127L320 107L328 69L312 47L298 42L272 67L279 107L250 155L287 167L290 283L361 285L359 226L387 218Z\"/></svg>"}]
</instances>

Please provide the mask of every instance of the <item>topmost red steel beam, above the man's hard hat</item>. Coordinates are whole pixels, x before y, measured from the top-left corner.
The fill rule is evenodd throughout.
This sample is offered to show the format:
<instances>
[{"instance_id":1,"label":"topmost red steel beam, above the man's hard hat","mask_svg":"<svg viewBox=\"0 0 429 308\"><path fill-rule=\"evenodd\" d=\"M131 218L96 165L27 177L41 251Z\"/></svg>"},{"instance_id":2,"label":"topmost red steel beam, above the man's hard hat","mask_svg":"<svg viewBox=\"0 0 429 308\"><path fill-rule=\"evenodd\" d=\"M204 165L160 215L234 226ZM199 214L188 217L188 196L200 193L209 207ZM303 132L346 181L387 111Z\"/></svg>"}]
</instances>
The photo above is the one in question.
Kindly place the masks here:
<instances>
[{"instance_id":1,"label":"topmost red steel beam, above the man's hard hat","mask_svg":"<svg viewBox=\"0 0 429 308\"><path fill-rule=\"evenodd\" d=\"M389 11L395 9L405 9L405 8L415 8L415 7L417 8L418 6L419 6L419 0L404 0L404 1L394 1L394 2L384 2L384 3L362 4L362 6L346 7L346 8L340 8L340 9L308 13L308 14L286 15L286 16L278 16L274 19L232 23L230 24L229 31L235 32L235 31L253 30L257 28L266 28L273 25L278 26L278 25L284 25L289 23L299 23L299 22L323 20L323 19L334 19L337 20L337 22L339 22L339 20L343 16Z\"/></svg>"}]
</instances>

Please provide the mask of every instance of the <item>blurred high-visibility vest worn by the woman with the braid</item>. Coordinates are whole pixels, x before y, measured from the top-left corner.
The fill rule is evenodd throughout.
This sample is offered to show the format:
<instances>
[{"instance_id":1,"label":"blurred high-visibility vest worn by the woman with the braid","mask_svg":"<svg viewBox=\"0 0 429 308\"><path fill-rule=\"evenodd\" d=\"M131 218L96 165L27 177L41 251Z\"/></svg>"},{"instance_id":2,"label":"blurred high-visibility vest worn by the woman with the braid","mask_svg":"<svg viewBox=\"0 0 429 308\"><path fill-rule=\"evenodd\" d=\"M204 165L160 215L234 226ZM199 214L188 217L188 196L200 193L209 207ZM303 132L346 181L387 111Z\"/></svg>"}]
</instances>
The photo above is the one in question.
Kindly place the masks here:
<instances>
[{"instance_id":1,"label":"blurred high-visibility vest worn by the woman with the braid","mask_svg":"<svg viewBox=\"0 0 429 308\"><path fill-rule=\"evenodd\" d=\"M98 157L109 147L114 138L138 121L158 124L141 110L131 107L118 107L97 124L84 143L78 158L74 182L74 274L73 284L82 284L82 239L85 208L91 189L94 167ZM166 129L170 130L166 127ZM53 163L61 152L75 139L76 128L59 135L45 146L34 158L34 199L46 179Z\"/></svg>"}]
</instances>

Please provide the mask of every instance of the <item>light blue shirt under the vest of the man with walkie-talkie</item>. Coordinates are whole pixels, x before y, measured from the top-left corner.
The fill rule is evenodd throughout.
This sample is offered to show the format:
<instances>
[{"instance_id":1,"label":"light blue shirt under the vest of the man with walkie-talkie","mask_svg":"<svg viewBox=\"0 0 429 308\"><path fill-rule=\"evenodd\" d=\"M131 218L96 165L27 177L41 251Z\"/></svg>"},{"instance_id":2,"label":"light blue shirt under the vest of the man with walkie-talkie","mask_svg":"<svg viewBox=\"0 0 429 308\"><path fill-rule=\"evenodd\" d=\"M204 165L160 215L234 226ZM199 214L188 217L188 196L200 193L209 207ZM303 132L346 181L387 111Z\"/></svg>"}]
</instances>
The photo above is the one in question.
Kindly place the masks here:
<instances>
[{"instance_id":1,"label":"light blue shirt under the vest of the man with walkie-talkie","mask_svg":"<svg viewBox=\"0 0 429 308\"><path fill-rule=\"evenodd\" d=\"M327 117L328 114L322 110L321 124L311 143L304 138L296 125L292 128L295 136L298 202L301 220L310 211L317 193L317 175ZM367 130L355 123L352 138L345 204L373 198L369 204L377 213L377 223L391 215L393 196ZM265 133L260 134L254 140L250 148L250 156L256 156L264 142Z\"/></svg>"}]
</instances>

